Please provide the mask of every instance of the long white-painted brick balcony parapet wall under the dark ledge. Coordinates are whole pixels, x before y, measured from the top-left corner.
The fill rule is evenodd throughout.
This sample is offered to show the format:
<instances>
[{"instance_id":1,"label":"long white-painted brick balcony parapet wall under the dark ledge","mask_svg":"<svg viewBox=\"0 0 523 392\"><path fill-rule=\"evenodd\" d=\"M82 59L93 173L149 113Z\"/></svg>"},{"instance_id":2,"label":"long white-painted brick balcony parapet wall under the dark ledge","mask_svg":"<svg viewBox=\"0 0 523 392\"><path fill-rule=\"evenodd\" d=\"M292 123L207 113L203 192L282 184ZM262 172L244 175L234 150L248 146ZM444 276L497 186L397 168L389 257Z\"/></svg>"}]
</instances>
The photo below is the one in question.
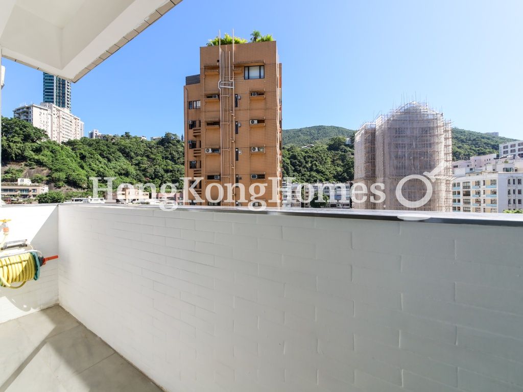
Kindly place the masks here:
<instances>
[{"instance_id":1,"label":"long white-painted brick balcony parapet wall under the dark ledge","mask_svg":"<svg viewBox=\"0 0 523 392\"><path fill-rule=\"evenodd\" d=\"M60 303L173 392L523 391L523 229L59 207Z\"/></svg>"}]
</instances>

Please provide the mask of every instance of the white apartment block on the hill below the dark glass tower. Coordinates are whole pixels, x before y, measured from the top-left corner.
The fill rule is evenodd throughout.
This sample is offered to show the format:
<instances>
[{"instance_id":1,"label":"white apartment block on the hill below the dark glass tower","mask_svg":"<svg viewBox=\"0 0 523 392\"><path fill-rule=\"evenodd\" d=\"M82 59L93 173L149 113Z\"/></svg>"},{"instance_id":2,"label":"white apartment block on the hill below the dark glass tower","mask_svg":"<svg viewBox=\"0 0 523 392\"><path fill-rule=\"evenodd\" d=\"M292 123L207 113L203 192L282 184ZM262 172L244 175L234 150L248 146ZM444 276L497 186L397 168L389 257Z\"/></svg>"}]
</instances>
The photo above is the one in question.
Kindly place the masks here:
<instances>
[{"instance_id":1,"label":"white apartment block on the hill below the dark glass tower","mask_svg":"<svg viewBox=\"0 0 523 392\"><path fill-rule=\"evenodd\" d=\"M69 109L60 108L52 103L21 106L13 110L13 117L43 129L49 139L58 143L80 139L84 135L84 123Z\"/></svg>"}]
</instances>

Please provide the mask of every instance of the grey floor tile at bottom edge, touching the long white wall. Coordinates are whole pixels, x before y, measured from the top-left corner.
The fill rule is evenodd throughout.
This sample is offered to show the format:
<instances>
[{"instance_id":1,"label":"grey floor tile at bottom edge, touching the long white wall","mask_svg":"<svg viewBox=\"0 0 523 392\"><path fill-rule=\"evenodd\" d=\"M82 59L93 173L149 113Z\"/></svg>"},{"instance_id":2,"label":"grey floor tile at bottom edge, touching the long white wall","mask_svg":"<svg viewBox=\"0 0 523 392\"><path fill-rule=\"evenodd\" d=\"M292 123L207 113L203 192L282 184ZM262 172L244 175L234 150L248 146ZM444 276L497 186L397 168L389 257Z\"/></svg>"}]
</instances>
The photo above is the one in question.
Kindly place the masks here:
<instances>
[{"instance_id":1,"label":"grey floor tile at bottom edge, touching the long white wall","mask_svg":"<svg viewBox=\"0 0 523 392\"><path fill-rule=\"evenodd\" d=\"M67 392L161 392L118 353L63 382Z\"/></svg>"}]
</instances>

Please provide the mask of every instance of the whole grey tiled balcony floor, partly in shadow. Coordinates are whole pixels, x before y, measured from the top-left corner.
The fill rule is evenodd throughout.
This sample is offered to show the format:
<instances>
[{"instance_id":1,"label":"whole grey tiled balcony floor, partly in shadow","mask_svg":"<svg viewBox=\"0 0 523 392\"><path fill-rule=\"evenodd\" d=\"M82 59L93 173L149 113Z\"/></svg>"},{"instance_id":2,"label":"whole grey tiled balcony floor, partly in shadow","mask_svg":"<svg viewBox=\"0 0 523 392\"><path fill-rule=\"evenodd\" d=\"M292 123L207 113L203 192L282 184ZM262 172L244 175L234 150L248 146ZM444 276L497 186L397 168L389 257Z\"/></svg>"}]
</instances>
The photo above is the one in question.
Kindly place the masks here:
<instances>
[{"instance_id":1,"label":"whole grey tiled balcony floor, partly in shadow","mask_svg":"<svg viewBox=\"0 0 523 392\"><path fill-rule=\"evenodd\" d=\"M0 391L161 391L56 305L0 324Z\"/></svg>"}]
</instances>

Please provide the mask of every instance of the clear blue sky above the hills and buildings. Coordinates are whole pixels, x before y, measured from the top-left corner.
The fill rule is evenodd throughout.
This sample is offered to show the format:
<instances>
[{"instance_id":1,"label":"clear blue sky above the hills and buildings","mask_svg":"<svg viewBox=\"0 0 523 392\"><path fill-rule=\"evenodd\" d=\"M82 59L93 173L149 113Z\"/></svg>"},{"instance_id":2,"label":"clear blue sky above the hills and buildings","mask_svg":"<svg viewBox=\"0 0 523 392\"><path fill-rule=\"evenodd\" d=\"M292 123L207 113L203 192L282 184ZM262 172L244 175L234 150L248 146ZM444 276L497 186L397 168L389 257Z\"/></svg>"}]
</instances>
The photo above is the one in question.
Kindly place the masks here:
<instances>
[{"instance_id":1,"label":"clear blue sky above the hills and buildings","mask_svg":"<svg viewBox=\"0 0 523 392\"><path fill-rule=\"evenodd\" d=\"M73 85L73 113L86 133L181 134L199 47L219 29L245 38L257 29L278 42L284 129L355 129L417 98L459 128L523 139L522 14L519 0L184 0ZM41 101L42 74L3 64L10 117Z\"/></svg>"}]
</instances>

